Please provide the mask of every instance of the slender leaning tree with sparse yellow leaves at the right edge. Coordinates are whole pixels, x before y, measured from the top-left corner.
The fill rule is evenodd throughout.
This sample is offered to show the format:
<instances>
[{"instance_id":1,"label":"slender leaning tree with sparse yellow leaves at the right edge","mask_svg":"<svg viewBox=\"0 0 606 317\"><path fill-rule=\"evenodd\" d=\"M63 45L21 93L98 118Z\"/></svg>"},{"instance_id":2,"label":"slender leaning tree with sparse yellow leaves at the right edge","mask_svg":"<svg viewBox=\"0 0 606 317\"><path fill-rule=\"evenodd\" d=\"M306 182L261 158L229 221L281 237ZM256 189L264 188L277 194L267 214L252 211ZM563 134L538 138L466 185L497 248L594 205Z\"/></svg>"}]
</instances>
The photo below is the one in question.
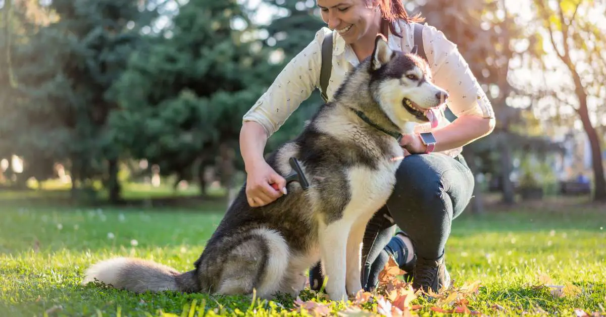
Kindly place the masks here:
<instances>
[{"instance_id":1,"label":"slender leaning tree with sparse yellow leaves at the right edge","mask_svg":"<svg viewBox=\"0 0 606 317\"><path fill-rule=\"evenodd\" d=\"M602 12L606 10L605 4L591 0L559 0L545 1L533 0L537 12L536 21L539 29L535 33L541 44L545 43L553 50L561 64L570 76L561 87L552 88L546 98L551 107L573 107L573 113L578 115L582 127L587 134L591 147L591 161L593 164L593 178L595 183L594 200L606 201L606 179L604 178L604 165L602 165L601 140L596 132L595 125L599 125L599 116L591 122L591 113L599 110L590 110L590 98L593 98L598 108L604 108L606 91L606 29L596 20L589 18L591 11ZM602 19L602 21L604 21ZM544 35L545 32L546 35ZM553 72L544 59L550 55L544 47L538 47L536 57L542 59L543 70ZM556 66L557 68L558 66ZM570 97L574 96L574 99ZM558 115L562 115L560 111Z\"/></svg>"}]
</instances>

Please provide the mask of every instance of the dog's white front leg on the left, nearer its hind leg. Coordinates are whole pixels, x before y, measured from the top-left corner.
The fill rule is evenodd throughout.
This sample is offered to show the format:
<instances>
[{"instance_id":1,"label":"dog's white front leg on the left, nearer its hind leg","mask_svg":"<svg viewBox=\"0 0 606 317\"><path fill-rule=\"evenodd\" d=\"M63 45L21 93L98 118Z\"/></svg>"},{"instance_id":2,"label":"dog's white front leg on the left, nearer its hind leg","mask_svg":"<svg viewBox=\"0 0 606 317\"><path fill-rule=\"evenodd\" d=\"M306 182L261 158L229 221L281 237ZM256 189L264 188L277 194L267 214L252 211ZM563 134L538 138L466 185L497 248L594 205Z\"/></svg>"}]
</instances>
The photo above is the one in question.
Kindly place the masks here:
<instances>
[{"instance_id":1,"label":"dog's white front leg on the left, nearer its hind leg","mask_svg":"<svg viewBox=\"0 0 606 317\"><path fill-rule=\"evenodd\" d=\"M347 301L345 269L347 265L347 237L351 224L340 219L328 225L320 224L320 252L326 281L326 292L333 301Z\"/></svg>"}]
</instances>

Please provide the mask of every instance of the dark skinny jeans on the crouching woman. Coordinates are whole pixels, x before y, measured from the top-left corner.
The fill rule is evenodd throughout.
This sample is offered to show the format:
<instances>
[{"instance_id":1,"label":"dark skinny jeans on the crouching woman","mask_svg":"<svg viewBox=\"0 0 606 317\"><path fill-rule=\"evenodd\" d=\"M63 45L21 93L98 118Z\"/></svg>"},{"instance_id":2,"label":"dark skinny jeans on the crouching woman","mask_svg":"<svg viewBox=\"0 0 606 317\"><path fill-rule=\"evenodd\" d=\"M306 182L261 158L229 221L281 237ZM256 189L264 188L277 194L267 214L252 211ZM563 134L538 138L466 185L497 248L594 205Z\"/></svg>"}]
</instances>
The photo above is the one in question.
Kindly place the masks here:
<instances>
[{"instance_id":1,"label":"dark skinny jeans on the crouching woman","mask_svg":"<svg viewBox=\"0 0 606 317\"><path fill-rule=\"evenodd\" d=\"M364 233L362 286L371 265L395 233L396 225L413 242L418 258L438 259L450 236L450 225L461 215L473 193L473 174L462 155L409 155L396 172L396 185ZM310 272L311 288L322 286L320 265Z\"/></svg>"}]
</instances>

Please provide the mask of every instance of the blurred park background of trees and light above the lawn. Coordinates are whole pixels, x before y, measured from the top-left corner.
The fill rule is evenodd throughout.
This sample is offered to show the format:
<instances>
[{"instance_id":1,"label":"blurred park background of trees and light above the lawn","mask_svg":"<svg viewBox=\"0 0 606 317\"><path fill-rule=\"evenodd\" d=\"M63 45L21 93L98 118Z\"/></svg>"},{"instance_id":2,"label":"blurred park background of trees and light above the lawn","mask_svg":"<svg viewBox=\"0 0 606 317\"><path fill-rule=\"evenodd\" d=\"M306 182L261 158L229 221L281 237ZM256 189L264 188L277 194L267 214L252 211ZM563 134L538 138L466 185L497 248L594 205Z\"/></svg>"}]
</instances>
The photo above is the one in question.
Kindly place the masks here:
<instances>
[{"instance_id":1,"label":"blurred park background of trees and light above the lawn","mask_svg":"<svg viewBox=\"0 0 606 317\"><path fill-rule=\"evenodd\" d=\"M496 112L464 148L471 210L606 200L603 1L405 2L458 44ZM314 0L0 8L0 199L77 204L227 201L245 179L242 115L325 26ZM313 93L267 151L320 103Z\"/></svg>"}]
</instances>

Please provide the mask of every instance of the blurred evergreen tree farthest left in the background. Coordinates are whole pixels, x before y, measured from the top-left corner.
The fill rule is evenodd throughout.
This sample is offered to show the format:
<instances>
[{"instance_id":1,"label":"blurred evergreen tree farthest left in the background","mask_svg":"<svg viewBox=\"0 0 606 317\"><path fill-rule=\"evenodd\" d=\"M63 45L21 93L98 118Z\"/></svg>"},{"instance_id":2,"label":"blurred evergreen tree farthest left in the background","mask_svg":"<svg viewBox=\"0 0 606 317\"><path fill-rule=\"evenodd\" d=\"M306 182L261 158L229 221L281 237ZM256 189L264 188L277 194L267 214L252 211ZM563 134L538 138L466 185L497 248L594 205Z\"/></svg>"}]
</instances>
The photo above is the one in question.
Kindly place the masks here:
<instances>
[{"instance_id":1,"label":"blurred evergreen tree farthest left in the background","mask_svg":"<svg viewBox=\"0 0 606 317\"><path fill-rule=\"evenodd\" d=\"M69 162L73 193L101 177L110 199L119 199L119 152L105 125L114 103L105 93L154 15L139 5L147 2L54 0L49 9L58 21L29 36L16 54L16 101L2 125L31 164Z\"/></svg>"}]
</instances>

